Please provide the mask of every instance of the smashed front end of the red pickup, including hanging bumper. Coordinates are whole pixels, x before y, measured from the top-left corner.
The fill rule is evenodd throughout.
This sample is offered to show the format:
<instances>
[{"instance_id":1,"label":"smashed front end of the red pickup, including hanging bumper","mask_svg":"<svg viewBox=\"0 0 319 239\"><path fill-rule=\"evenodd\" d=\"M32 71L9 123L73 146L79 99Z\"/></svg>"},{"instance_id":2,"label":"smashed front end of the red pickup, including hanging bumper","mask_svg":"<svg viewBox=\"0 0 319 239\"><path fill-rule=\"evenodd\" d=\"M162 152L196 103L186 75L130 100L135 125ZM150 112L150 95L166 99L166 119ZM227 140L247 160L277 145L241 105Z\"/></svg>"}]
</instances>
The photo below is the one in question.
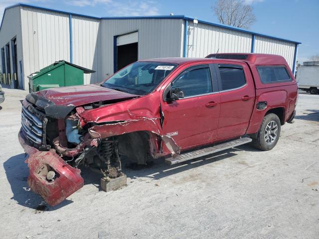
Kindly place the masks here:
<instances>
[{"instance_id":1,"label":"smashed front end of the red pickup, including hanging bumper","mask_svg":"<svg viewBox=\"0 0 319 239\"><path fill-rule=\"evenodd\" d=\"M54 206L83 186L81 167L114 179L123 174L124 158L146 164L148 158L160 157L167 149L179 153L172 138L161 135L160 117L139 117L127 110L129 119L91 120L95 110L132 98L136 96L75 106L58 105L34 93L27 95L22 103L19 140L29 154L30 188Z\"/></svg>"}]
</instances>

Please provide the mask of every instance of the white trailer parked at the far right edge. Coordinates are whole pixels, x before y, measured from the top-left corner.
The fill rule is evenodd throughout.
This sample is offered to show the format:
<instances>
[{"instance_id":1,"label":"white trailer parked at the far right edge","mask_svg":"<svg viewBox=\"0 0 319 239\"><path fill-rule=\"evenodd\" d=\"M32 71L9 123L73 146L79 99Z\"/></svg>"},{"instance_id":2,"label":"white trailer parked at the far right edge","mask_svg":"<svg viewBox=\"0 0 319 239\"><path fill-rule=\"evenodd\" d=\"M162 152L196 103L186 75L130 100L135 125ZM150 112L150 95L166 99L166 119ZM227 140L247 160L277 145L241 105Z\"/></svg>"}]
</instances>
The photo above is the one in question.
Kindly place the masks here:
<instances>
[{"instance_id":1,"label":"white trailer parked at the far right edge","mask_svg":"<svg viewBox=\"0 0 319 239\"><path fill-rule=\"evenodd\" d=\"M298 67L296 80L299 89L313 95L319 94L319 62L304 62L303 66Z\"/></svg>"}]
</instances>

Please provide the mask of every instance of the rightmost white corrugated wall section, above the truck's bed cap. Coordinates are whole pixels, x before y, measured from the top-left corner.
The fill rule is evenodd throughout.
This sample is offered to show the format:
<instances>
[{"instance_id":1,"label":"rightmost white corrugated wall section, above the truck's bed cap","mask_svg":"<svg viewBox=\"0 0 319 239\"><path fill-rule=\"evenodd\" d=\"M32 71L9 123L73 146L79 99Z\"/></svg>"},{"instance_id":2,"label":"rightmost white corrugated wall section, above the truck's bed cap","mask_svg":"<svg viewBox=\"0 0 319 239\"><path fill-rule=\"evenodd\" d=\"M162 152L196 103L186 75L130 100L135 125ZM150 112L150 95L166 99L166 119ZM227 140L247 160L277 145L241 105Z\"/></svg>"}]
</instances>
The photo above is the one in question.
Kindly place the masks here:
<instances>
[{"instance_id":1,"label":"rightmost white corrugated wall section, above the truck's bed cap","mask_svg":"<svg viewBox=\"0 0 319 239\"><path fill-rule=\"evenodd\" d=\"M295 44L292 42L256 36L254 52L281 55L286 59L290 68L293 69Z\"/></svg>"}]
</instances>

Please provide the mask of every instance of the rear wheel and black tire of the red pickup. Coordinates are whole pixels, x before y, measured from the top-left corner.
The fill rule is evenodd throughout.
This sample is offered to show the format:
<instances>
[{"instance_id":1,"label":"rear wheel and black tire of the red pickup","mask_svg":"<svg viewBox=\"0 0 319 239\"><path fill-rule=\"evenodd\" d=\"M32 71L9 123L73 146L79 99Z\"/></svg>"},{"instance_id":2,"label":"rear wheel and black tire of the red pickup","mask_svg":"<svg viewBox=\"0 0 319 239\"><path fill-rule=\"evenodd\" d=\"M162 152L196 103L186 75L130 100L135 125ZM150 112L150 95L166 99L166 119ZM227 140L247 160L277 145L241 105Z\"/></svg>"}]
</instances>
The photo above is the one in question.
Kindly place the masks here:
<instances>
[{"instance_id":1,"label":"rear wheel and black tire of the red pickup","mask_svg":"<svg viewBox=\"0 0 319 239\"><path fill-rule=\"evenodd\" d=\"M273 149L280 136L280 119L275 114L266 115L260 125L256 137L253 138L253 146L263 151Z\"/></svg>"}]
</instances>

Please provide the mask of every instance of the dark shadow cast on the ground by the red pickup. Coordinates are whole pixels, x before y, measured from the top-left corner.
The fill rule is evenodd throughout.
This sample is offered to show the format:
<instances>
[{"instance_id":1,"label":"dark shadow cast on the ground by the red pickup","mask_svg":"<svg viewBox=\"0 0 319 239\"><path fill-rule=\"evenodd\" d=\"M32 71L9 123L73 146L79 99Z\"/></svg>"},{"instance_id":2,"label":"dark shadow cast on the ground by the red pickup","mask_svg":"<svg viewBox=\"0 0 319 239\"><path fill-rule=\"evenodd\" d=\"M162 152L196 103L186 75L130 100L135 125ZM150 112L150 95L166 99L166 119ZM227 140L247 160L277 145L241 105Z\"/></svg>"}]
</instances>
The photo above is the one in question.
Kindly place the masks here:
<instances>
[{"instance_id":1,"label":"dark shadow cast on the ground by the red pickup","mask_svg":"<svg viewBox=\"0 0 319 239\"><path fill-rule=\"evenodd\" d=\"M222 152L210 154L176 165L167 165L164 163L163 158L159 158L150 162L146 166L132 167L131 164L124 166L123 172L131 179L147 177L157 180L223 159L230 159L231 157L237 155L234 152L243 150L251 151L253 149L250 146L243 145L237 148L231 148ZM21 206L35 209L36 212L54 211L73 202L71 196L70 200L66 199L59 205L50 207L38 194L32 192L27 184L29 169L27 167L27 164L24 162L25 159L26 157L24 157L24 154L18 154L10 157L3 163L6 177L13 193L13 197L11 198L12 200L16 201ZM123 165L125 165L125 161L123 162ZM89 168L81 168L81 172L85 185L93 184L100 190L100 179L102 177L101 174L92 171Z\"/></svg>"}]
</instances>

